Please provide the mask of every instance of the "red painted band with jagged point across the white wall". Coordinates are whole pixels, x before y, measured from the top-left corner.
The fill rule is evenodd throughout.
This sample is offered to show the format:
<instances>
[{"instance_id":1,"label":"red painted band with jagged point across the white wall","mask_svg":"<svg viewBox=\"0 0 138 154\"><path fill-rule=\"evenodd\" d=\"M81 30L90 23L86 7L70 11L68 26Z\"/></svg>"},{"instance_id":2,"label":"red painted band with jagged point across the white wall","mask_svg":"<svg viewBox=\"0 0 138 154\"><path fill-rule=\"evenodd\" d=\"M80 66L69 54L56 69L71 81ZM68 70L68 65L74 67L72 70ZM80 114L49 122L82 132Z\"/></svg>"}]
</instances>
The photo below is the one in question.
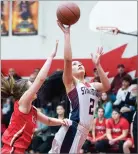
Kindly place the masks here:
<instances>
[{"instance_id":1,"label":"red painted band with jagged point across the white wall","mask_svg":"<svg viewBox=\"0 0 138 154\"><path fill-rule=\"evenodd\" d=\"M113 49L112 51L107 52L101 57L101 65L105 72L108 72L108 77L114 77L117 73L117 65L118 64L124 64L126 67L127 72L136 71L138 68L137 62L138 62L138 56L133 56L129 58L122 58L122 55L127 47L127 44L124 44L116 49ZM94 65L92 63L91 59L76 59L83 63L86 69L86 74L88 77L93 76L93 68ZM2 72L7 75L9 68L15 68L16 72L18 72L21 76L29 76L35 68L41 68L44 64L45 60L41 59L35 59L35 60L2 60ZM50 73L54 72L57 69L63 69L64 61L63 59L55 59L53 60ZM138 72L138 71L136 71ZM135 76L138 76L137 73L135 73Z\"/></svg>"}]
</instances>

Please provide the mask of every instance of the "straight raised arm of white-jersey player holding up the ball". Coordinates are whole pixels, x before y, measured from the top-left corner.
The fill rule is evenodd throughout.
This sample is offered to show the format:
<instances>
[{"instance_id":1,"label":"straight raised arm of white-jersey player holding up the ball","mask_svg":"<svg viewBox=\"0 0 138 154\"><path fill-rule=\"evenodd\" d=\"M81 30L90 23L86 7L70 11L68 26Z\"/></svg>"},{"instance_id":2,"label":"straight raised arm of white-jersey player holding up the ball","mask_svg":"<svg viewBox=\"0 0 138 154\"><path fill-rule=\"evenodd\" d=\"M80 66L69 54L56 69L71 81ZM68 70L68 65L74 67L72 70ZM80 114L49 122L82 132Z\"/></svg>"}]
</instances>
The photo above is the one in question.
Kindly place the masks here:
<instances>
[{"instance_id":1,"label":"straight raised arm of white-jersey player holding up the ball","mask_svg":"<svg viewBox=\"0 0 138 154\"><path fill-rule=\"evenodd\" d=\"M64 73L63 82L66 87L66 91L69 92L73 84L72 76L72 51L70 43L70 26L64 27L63 24L57 21L58 26L64 33Z\"/></svg>"}]
</instances>

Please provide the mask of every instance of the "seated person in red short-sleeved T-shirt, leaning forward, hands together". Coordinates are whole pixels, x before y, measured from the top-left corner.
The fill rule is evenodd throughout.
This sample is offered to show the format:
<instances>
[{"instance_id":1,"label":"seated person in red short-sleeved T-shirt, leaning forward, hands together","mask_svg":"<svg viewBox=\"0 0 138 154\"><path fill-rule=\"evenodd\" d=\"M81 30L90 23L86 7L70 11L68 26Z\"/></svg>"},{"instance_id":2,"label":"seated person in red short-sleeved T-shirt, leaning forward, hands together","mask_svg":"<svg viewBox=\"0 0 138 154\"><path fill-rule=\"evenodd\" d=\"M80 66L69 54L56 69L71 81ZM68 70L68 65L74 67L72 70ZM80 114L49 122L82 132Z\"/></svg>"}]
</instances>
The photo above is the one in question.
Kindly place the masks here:
<instances>
[{"instance_id":1,"label":"seated person in red short-sleeved T-shirt, leaning forward, hands together","mask_svg":"<svg viewBox=\"0 0 138 154\"><path fill-rule=\"evenodd\" d=\"M123 144L129 132L128 121L121 117L119 109L113 109L112 118L107 120L106 135L108 140L101 140L97 145L98 152L108 152L110 146L119 145L119 152L123 153Z\"/></svg>"}]
</instances>

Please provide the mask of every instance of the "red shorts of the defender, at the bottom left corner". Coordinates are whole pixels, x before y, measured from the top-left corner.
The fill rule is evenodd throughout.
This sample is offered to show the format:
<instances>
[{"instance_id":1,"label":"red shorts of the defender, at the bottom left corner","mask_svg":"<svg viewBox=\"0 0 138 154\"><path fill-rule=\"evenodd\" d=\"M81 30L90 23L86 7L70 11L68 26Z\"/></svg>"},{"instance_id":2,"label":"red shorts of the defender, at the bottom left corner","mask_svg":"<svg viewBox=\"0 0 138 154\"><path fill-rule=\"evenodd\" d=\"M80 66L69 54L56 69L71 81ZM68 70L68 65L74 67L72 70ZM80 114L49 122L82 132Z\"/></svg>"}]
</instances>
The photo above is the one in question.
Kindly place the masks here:
<instances>
[{"instance_id":1,"label":"red shorts of the defender, at the bottom left corner","mask_svg":"<svg viewBox=\"0 0 138 154\"><path fill-rule=\"evenodd\" d=\"M7 144L4 144L1 149L1 154L24 154L24 153L25 153L25 149L11 147Z\"/></svg>"}]
</instances>

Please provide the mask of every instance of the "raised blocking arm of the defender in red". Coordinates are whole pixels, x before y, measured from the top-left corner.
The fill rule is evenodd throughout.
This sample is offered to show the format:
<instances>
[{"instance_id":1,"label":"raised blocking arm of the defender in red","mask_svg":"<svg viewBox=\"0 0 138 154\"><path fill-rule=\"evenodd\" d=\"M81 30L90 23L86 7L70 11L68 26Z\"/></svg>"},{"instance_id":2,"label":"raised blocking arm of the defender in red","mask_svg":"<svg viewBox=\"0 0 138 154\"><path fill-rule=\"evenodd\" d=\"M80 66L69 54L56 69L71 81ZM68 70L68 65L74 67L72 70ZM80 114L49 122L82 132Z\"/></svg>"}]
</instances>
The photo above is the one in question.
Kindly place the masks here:
<instances>
[{"instance_id":1,"label":"raised blocking arm of the defender in red","mask_svg":"<svg viewBox=\"0 0 138 154\"><path fill-rule=\"evenodd\" d=\"M35 97L36 93L42 86L43 82L45 81L49 69L51 67L51 63L53 58L56 56L58 48L58 41L56 42L56 48L54 52L50 55L50 57L47 58L47 61L41 68L40 72L38 73L34 83L30 86L30 88L23 94L23 96L19 100L19 110L23 113L28 113L31 109L31 104L33 101L33 98Z\"/></svg>"}]
</instances>

